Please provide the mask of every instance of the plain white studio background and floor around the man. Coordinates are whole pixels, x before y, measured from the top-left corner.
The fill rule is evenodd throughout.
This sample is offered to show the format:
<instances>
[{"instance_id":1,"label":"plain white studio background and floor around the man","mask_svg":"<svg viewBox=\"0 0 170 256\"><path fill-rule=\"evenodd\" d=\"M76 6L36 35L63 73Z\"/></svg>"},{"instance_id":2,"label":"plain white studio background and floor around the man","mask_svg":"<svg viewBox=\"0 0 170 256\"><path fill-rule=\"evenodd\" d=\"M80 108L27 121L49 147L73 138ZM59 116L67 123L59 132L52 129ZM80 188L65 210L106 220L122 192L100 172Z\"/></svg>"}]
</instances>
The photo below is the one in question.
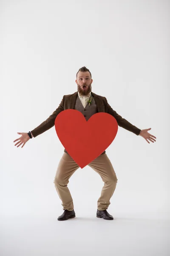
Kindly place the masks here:
<instances>
[{"instance_id":1,"label":"plain white studio background and floor around the man","mask_svg":"<svg viewBox=\"0 0 170 256\"><path fill-rule=\"evenodd\" d=\"M169 255L169 15L168 0L0 2L2 256ZM82 66L92 92L157 138L148 144L119 127L106 150L118 178L113 221L96 218L104 184L88 166L68 184L77 218L57 221L64 147L54 127L23 148L13 143L77 91Z\"/></svg>"}]
</instances>

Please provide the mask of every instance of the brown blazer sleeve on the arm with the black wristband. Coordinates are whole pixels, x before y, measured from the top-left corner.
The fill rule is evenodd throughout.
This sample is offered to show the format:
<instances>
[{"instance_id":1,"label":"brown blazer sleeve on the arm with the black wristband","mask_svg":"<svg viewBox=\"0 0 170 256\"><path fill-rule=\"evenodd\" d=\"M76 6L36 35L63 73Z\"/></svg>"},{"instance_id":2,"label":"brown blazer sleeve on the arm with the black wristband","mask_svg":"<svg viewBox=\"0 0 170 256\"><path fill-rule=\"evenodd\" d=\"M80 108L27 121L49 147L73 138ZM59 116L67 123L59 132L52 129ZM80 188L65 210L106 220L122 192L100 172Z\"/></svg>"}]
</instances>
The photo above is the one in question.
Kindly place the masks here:
<instances>
[{"instance_id":1,"label":"brown blazer sleeve on the arm with the black wristband","mask_svg":"<svg viewBox=\"0 0 170 256\"><path fill-rule=\"evenodd\" d=\"M64 96L58 108L44 122L42 122L39 126L37 126L36 128L34 128L34 130L31 131L33 136L37 137L38 135L42 134L43 132L53 127L57 115L63 110L64 110Z\"/></svg>"}]
</instances>

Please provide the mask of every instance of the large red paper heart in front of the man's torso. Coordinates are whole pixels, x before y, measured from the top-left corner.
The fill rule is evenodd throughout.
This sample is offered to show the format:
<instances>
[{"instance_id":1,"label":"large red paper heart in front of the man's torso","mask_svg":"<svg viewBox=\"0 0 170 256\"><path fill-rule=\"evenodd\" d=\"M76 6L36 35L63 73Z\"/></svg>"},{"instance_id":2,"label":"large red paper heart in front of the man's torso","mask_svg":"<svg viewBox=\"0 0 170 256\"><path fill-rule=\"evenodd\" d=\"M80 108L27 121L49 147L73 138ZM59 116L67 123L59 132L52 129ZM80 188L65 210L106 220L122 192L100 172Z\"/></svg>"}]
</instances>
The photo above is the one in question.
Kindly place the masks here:
<instances>
[{"instance_id":1,"label":"large red paper heart in front of the man's torso","mask_svg":"<svg viewBox=\"0 0 170 256\"><path fill-rule=\"evenodd\" d=\"M86 121L80 111L67 109L57 115L55 129L68 154L83 168L111 145L118 124L108 113L96 113Z\"/></svg>"}]
</instances>

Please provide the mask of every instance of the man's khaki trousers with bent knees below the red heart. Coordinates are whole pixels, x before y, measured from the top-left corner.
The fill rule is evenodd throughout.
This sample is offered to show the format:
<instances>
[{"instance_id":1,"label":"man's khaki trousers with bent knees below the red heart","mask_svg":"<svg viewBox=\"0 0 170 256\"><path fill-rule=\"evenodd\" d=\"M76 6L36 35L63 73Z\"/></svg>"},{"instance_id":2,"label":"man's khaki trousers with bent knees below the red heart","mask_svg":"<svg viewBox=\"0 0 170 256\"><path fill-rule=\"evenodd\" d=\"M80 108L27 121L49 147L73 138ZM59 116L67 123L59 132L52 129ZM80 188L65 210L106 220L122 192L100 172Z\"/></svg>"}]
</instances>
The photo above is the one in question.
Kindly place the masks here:
<instances>
[{"instance_id":1,"label":"man's khaki trousers with bent knees below the red heart","mask_svg":"<svg viewBox=\"0 0 170 256\"><path fill-rule=\"evenodd\" d=\"M114 172L111 161L107 154L99 155L91 163L88 164L95 172L97 172L104 182L101 195L97 201L97 209L105 210L111 204L110 199L116 189L117 177ZM62 201L63 210L67 209L72 211L74 209L73 199L68 189L68 182L71 175L79 169L77 163L73 158L64 152L61 160L59 161L57 172L54 178L55 188ZM94 184L95 186L95 184Z\"/></svg>"}]
</instances>

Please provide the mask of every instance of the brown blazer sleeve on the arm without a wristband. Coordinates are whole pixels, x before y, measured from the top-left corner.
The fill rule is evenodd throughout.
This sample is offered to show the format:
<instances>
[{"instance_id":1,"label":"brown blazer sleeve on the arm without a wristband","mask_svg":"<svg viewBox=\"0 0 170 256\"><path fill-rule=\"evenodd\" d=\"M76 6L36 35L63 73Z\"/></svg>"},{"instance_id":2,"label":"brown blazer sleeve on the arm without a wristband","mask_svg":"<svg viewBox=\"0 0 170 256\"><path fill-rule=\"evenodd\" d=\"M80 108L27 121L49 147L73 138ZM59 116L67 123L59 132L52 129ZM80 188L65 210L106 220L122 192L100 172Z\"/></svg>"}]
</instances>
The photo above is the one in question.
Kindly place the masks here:
<instances>
[{"instance_id":1,"label":"brown blazer sleeve on the arm without a wristband","mask_svg":"<svg viewBox=\"0 0 170 256\"><path fill-rule=\"evenodd\" d=\"M136 135L139 135L141 129L137 128L136 126L132 125L130 122L128 122L125 118L122 118L116 111L111 108L111 106L108 104L107 99L105 98L108 108L108 113L111 114L117 121L118 125L127 131L131 131Z\"/></svg>"}]
</instances>

